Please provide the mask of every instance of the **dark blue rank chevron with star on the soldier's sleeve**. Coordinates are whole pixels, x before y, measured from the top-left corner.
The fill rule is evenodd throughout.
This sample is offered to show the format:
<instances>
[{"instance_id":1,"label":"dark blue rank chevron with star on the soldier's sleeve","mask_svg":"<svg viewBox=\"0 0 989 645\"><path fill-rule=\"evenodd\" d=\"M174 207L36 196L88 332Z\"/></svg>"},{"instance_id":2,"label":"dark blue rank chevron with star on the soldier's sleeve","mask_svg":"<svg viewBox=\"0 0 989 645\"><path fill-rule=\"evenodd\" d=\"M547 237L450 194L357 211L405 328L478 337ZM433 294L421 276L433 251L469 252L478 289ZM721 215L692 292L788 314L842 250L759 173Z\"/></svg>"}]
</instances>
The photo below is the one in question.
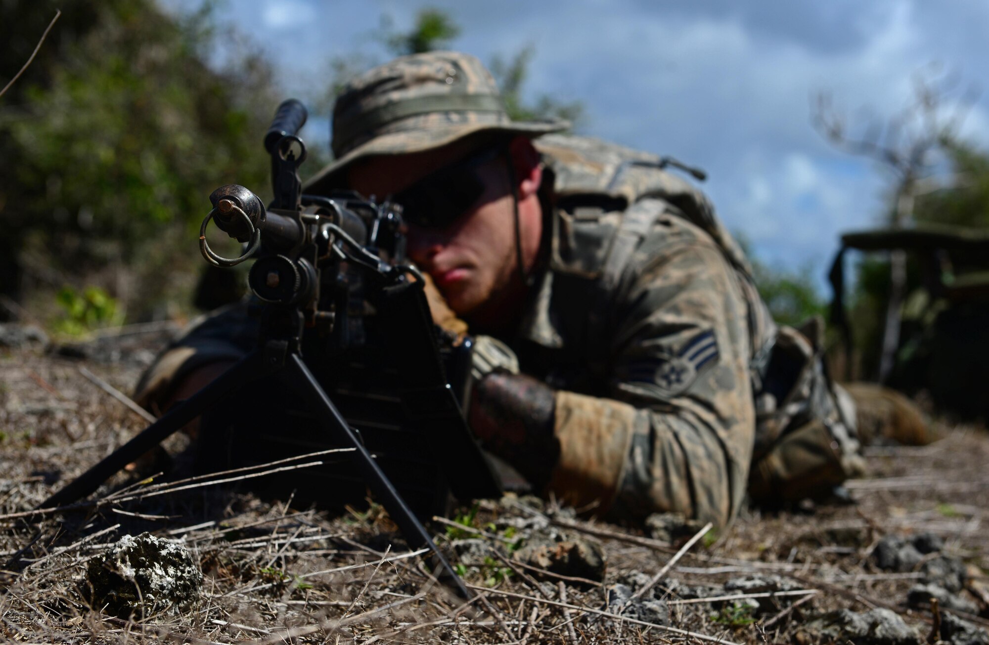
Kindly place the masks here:
<instances>
[{"instance_id":1,"label":"dark blue rank chevron with star on the soldier's sleeve","mask_svg":"<svg viewBox=\"0 0 989 645\"><path fill-rule=\"evenodd\" d=\"M705 367L717 362L718 355L714 331L701 331L687 340L675 356L651 356L630 365L628 381L644 384L655 394L672 397L693 385Z\"/></svg>"}]
</instances>

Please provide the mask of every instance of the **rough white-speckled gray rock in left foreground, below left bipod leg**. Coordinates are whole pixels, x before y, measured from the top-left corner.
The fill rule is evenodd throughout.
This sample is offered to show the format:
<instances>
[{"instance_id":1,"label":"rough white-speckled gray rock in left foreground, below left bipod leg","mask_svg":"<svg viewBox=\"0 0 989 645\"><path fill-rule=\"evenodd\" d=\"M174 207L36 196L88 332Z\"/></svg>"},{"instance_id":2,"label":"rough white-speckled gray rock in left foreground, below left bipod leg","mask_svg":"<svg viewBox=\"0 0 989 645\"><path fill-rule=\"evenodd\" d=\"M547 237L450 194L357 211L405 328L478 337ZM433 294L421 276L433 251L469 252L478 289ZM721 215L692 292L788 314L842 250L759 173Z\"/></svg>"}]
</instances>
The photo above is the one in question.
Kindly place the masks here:
<instances>
[{"instance_id":1,"label":"rough white-speckled gray rock in left foreground, below left bipod leg","mask_svg":"<svg viewBox=\"0 0 989 645\"><path fill-rule=\"evenodd\" d=\"M94 608L122 617L177 613L199 599L203 573L189 550L150 533L125 535L86 565L82 592Z\"/></svg>"}]
</instances>

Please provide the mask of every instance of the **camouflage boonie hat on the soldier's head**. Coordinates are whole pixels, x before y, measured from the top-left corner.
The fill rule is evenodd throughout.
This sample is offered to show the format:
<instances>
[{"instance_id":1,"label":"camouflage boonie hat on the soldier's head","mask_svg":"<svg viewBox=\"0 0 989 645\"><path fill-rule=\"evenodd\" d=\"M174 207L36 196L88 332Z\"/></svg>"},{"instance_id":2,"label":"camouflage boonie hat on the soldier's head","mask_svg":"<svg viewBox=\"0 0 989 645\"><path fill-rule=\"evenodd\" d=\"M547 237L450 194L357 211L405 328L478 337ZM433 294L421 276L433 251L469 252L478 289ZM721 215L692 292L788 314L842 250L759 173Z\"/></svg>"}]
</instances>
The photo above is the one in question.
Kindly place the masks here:
<instances>
[{"instance_id":1,"label":"camouflage boonie hat on the soldier's head","mask_svg":"<svg viewBox=\"0 0 989 645\"><path fill-rule=\"evenodd\" d=\"M494 77L472 55L403 56L347 83L333 108L336 159L306 183L306 191L340 187L341 172L369 156L422 152L486 131L538 137L568 126L509 119Z\"/></svg>"}]
</instances>

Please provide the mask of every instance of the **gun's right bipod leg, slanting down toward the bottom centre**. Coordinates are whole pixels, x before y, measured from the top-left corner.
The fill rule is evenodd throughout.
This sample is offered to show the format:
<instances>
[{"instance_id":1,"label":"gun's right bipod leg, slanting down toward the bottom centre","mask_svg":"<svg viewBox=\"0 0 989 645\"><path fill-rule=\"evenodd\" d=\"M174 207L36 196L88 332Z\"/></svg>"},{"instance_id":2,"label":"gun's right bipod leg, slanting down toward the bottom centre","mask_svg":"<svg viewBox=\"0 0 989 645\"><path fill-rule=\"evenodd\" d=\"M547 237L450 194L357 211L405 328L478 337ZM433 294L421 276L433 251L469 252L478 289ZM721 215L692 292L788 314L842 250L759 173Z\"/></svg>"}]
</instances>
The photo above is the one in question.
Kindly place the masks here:
<instances>
[{"instance_id":1,"label":"gun's right bipod leg, slanting down toward the bottom centre","mask_svg":"<svg viewBox=\"0 0 989 645\"><path fill-rule=\"evenodd\" d=\"M378 463L371 456L371 453L368 452L363 442L357 437L357 434L354 433L343 416L340 415L336 406L329 400L329 397L326 396L326 392L319 385L319 382L306 366L306 363L303 362L302 357L296 353L289 354L285 367L286 370L283 374L288 378L295 379L295 385L309 402L310 406L313 407L315 415L333 432L334 438L347 447L355 449L353 459L357 469L364 477L364 481L371 489L371 492L378 498L382 506L388 510L389 516L399 525L408 545L412 548L426 546L431 549L435 563L439 566L441 572L439 575L440 581L445 583L460 598L473 598L473 594L468 591L464 585L464 581L454 572L453 567L450 566L447 559L443 557L443 554L433 544L432 538L429 536L429 532L425 526L422 525L422 522L408 508L405 500L402 499L399 491L396 490L395 485L392 484L388 476L381 470L381 467L378 466Z\"/></svg>"}]
</instances>

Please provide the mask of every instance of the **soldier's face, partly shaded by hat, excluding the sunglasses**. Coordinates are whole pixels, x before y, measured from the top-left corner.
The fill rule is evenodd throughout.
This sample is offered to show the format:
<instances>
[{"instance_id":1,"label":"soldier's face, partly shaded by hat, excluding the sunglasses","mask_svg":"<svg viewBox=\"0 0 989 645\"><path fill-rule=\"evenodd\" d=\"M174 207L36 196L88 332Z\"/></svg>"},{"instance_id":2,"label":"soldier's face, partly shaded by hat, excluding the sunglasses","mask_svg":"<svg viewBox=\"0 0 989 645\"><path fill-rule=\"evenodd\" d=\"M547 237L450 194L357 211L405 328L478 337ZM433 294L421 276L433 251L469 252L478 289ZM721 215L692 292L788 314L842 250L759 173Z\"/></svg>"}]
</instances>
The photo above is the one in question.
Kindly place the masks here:
<instances>
[{"instance_id":1,"label":"soldier's face, partly shaded by hat, excluding the sunglasses","mask_svg":"<svg viewBox=\"0 0 989 645\"><path fill-rule=\"evenodd\" d=\"M370 159L348 174L350 187L384 198L401 194L416 182L465 156L464 146L426 153ZM455 167L455 166L453 166ZM496 300L515 271L513 206L503 155L473 165L479 181L477 199L442 226L407 225L408 255L432 276L454 312L469 316Z\"/></svg>"}]
</instances>

